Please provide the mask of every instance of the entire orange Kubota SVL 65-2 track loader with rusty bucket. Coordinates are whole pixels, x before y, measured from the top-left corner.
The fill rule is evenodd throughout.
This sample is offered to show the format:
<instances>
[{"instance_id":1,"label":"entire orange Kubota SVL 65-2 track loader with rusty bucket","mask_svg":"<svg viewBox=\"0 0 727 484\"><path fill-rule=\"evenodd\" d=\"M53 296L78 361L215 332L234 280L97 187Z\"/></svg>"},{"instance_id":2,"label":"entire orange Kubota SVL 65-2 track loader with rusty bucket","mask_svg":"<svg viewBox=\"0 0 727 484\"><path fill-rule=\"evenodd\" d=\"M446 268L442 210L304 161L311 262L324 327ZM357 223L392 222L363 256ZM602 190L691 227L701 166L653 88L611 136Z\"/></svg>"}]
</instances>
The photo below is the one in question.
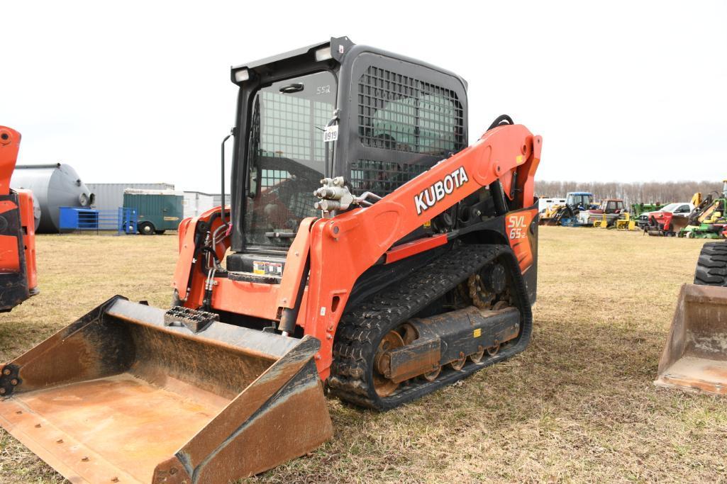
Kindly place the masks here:
<instances>
[{"instance_id":1,"label":"entire orange Kubota SVL 65-2 track loader with rusty bucket","mask_svg":"<svg viewBox=\"0 0 727 484\"><path fill-rule=\"evenodd\" d=\"M116 297L3 367L0 423L73 482L225 483L525 349L542 139L467 147L467 85L348 38L232 69L232 197L174 302ZM314 203L315 202L315 203Z\"/></svg>"}]
</instances>

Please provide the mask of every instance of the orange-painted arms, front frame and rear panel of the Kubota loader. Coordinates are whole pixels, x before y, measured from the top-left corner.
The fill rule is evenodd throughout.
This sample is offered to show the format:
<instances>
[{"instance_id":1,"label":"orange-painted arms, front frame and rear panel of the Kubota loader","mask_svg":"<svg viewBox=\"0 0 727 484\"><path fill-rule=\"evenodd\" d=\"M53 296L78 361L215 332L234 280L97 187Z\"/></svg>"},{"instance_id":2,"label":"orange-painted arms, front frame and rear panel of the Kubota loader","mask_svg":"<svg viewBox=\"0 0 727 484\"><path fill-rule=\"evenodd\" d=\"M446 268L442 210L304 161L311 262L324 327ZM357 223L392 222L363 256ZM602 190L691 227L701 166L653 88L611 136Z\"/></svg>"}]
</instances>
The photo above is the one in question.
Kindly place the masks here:
<instances>
[{"instance_id":1,"label":"orange-painted arms, front frame and rear panel of the Kubota loader","mask_svg":"<svg viewBox=\"0 0 727 484\"><path fill-rule=\"evenodd\" d=\"M446 243L447 235L439 234L392 248L395 241L467 195L499 180L507 197L525 207L505 216L505 233L521 271L529 270L537 250L537 242L529 240L529 232L537 217L537 209L533 208L534 175L541 144L542 138L531 134L525 126L499 126L372 206L345 211L332 218L304 219L288 250L279 284L213 278L211 307L278 321L285 308L296 306L300 284L305 281L305 265L310 258L308 286L297 308L296 323L305 334L321 341L316 365L321 378L326 379L332 363L334 334L357 278L382 256L385 263L390 263ZM435 194L439 182L446 189L441 198ZM430 199L439 198L431 205L422 204L426 198L420 195L427 191ZM214 231L222 225L220 217L213 217L219 211L220 207L216 207L180 225L180 257L173 286L185 307L202 306L206 284L202 258L194 257L196 225L211 221L210 230ZM228 250L228 240L222 238L215 247L220 260Z\"/></svg>"}]
</instances>

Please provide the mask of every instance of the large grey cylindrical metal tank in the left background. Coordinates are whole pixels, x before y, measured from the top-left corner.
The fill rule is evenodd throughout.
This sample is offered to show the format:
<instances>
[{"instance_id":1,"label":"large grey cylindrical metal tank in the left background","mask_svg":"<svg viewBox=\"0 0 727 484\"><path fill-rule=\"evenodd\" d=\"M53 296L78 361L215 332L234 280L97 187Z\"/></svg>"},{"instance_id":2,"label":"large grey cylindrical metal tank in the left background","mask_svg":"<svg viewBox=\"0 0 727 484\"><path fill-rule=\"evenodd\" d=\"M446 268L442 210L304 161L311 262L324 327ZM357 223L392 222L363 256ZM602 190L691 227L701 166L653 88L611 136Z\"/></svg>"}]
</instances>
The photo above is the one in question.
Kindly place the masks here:
<instances>
[{"instance_id":1,"label":"large grey cylindrical metal tank in the left background","mask_svg":"<svg viewBox=\"0 0 727 484\"><path fill-rule=\"evenodd\" d=\"M33 190L41 209L36 222L39 233L58 233L61 206L88 207L94 203L94 194L81 182L79 174L70 165L17 165L10 186Z\"/></svg>"}]
</instances>

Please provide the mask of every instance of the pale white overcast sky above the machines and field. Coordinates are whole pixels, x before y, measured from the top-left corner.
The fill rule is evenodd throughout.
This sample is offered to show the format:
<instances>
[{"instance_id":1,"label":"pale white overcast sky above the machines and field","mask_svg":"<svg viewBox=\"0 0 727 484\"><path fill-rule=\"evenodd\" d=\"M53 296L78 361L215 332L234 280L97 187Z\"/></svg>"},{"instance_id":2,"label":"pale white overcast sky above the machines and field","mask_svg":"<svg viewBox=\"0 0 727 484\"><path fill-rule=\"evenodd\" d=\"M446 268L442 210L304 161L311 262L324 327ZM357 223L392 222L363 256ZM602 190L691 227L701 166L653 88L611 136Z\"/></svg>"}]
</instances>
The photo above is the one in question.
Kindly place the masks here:
<instances>
[{"instance_id":1,"label":"pale white overcast sky above the machines and field","mask_svg":"<svg viewBox=\"0 0 727 484\"><path fill-rule=\"evenodd\" d=\"M0 125L20 164L219 192L230 65L348 36L458 73L470 142L543 136L537 179L727 177L727 2L2 2Z\"/></svg>"}]
</instances>

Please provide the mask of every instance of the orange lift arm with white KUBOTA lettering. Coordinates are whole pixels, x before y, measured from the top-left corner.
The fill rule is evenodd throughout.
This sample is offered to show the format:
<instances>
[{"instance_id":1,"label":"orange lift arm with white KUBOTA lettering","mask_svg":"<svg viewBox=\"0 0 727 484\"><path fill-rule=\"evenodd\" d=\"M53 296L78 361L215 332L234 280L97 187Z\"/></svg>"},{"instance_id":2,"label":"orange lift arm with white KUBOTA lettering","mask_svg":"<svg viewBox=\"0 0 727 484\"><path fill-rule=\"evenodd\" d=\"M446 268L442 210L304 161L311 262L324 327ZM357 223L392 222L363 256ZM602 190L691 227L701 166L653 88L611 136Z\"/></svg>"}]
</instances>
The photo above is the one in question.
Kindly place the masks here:
<instances>
[{"instance_id":1,"label":"orange lift arm with white KUBOTA lettering","mask_svg":"<svg viewBox=\"0 0 727 484\"><path fill-rule=\"evenodd\" d=\"M500 181L507 195L511 193L512 180L518 180L520 185L515 190L515 196L519 198L517 205L531 206L534 200L533 177L540 159L541 143L540 137L534 137L522 125L499 126L486 132L470 148L435 165L374 206L356 209L332 220L320 219L313 225L311 267L346 267L346 270L335 270L333 274L324 270L311 270L310 273L309 287L313 288L313 292L308 295L306 325L312 326L310 334L322 342L320 358L316 360L322 378L328 376L330 365L329 358L326 358L327 347L332 345L341 309L345 307L356 279L399 238L481 187ZM417 213L418 197L439 182L446 185L450 177L455 179L451 194L446 194L448 190L445 188L441 200ZM436 197L437 194L434 195ZM438 238L443 244L452 235L455 234L438 235Z\"/></svg>"}]
</instances>

